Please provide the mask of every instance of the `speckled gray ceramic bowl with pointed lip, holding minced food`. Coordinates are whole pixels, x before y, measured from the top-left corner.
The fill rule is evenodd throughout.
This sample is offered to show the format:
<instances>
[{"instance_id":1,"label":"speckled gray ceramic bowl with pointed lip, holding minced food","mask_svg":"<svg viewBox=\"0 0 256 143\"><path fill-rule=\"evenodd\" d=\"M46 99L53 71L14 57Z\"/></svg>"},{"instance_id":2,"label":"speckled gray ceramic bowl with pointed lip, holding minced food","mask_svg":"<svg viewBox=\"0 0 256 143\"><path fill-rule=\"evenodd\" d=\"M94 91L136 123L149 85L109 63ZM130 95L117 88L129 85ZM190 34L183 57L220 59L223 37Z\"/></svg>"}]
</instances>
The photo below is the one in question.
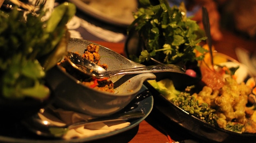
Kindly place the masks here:
<instances>
[{"instance_id":1,"label":"speckled gray ceramic bowl with pointed lip, holding minced food","mask_svg":"<svg viewBox=\"0 0 256 143\"><path fill-rule=\"evenodd\" d=\"M72 38L67 51L83 54L87 45L91 43L87 40ZM101 63L108 64L108 70L144 66L103 46L100 46L99 54ZM55 106L97 117L108 116L124 108L138 94L144 81L155 78L153 73L118 75L110 79L117 86L115 87L117 93L110 93L94 90L81 84L80 81L63 72L60 66L49 70L46 77L47 83L56 95Z\"/></svg>"}]
</instances>

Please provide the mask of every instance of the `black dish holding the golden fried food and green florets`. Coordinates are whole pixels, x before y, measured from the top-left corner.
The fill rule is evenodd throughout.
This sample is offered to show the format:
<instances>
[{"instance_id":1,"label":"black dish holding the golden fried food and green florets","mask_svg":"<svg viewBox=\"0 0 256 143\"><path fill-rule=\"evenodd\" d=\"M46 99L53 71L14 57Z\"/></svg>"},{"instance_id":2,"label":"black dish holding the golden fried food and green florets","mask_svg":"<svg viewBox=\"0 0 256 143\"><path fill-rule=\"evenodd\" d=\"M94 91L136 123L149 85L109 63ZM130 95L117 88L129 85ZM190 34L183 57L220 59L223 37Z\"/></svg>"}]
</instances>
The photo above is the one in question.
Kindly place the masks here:
<instances>
[{"instance_id":1,"label":"black dish holding the golden fried food and green florets","mask_svg":"<svg viewBox=\"0 0 256 143\"><path fill-rule=\"evenodd\" d=\"M152 93L158 112L206 143L256 143L256 134L239 134L206 123L170 102L148 82L145 82L145 86Z\"/></svg>"}]
</instances>

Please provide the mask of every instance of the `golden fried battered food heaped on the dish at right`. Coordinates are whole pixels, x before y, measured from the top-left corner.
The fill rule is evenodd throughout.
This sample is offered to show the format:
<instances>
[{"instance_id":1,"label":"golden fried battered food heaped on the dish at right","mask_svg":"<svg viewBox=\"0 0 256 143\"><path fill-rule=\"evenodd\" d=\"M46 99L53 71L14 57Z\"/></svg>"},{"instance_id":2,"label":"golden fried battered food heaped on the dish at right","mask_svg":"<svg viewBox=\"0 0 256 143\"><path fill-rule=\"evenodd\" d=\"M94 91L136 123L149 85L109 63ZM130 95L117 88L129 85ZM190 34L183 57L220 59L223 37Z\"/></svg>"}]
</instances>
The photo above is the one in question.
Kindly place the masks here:
<instances>
[{"instance_id":1,"label":"golden fried battered food heaped on the dish at right","mask_svg":"<svg viewBox=\"0 0 256 143\"><path fill-rule=\"evenodd\" d=\"M198 93L193 95L199 102L207 103L211 108L216 109L217 123L220 128L227 128L227 125L244 124L245 131L251 130L249 125L253 121L248 118L248 110L246 105L248 102L248 95L252 92L252 88L245 83L238 84L232 77L226 77L224 85L219 90L213 90L209 86L204 88ZM253 110L254 111L254 110ZM252 113L251 113L252 115ZM256 113L255 113L256 121ZM256 123L256 122L255 122Z\"/></svg>"}]
</instances>

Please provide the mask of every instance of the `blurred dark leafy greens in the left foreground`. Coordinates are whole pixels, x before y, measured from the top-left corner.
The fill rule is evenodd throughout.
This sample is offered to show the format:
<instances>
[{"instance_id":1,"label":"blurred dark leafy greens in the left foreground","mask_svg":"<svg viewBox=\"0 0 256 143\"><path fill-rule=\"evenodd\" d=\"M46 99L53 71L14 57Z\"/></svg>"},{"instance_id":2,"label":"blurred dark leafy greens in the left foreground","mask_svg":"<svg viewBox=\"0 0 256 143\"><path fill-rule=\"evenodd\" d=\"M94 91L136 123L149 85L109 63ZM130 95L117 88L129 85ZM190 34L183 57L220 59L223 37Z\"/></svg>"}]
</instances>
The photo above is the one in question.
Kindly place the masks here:
<instances>
[{"instance_id":1,"label":"blurred dark leafy greens in the left foreground","mask_svg":"<svg viewBox=\"0 0 256 143\"><path fill-rule=\"evenodd\" d=\"M67 50L66 23L76 7L64 2L42 21L46 12L0 11L0 98L49 97L44 77Z\"/></svg>"}]
</instances>

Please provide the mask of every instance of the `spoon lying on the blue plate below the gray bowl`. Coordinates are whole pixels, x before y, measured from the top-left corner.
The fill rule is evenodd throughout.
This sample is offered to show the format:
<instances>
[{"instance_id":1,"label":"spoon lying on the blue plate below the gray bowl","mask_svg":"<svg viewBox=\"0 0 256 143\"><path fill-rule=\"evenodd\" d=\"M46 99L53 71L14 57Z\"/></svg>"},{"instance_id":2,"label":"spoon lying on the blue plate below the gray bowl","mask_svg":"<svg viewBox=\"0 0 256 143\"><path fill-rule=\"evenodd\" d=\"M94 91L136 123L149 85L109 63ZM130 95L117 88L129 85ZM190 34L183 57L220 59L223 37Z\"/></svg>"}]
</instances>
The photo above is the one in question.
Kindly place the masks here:
<instances>
[{"instance_id":1,"label":"spoon lying on the blue plate below the gray bowl","mask_svg":"<svg viewBox=\"0 0 256 143\"><path fill-rule=\"evenodd\" d=\"M41 113L38 113L38 114L41 114ZM141 118L145 116L145 113L143 112L143 110L135 110L135 111L124 112L121 114L115 114L107 117L90 118L90 119L87 119L86 121L59 126L48 120L41 119L38 116L38 114L35 114L34 116L29 117L28 119L22 121L22 124L25 125L31 132L34 132L37 135L46 136L46 137L57 137L57 138L60 138L63 135L65 135L67 131L70 129L78 128L88 123L106 122L106 121L127 121L129 119L136 119L136 118Z\"/></svg>"}]
</instances>

